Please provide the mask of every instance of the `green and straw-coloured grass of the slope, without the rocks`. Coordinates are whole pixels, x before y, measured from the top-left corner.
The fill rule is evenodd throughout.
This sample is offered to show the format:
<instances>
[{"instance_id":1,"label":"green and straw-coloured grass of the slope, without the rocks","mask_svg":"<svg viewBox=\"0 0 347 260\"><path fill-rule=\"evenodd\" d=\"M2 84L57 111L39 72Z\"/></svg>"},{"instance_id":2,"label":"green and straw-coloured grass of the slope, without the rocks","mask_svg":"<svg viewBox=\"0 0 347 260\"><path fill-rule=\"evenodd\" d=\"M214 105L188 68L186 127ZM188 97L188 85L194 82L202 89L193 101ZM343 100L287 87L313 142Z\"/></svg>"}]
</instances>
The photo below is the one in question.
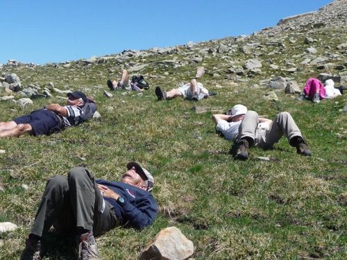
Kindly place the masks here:
<instances>
[{"instance_id":1,"label":"green and straw-coloured grass of the slope, without the rocks","mask_svg":"<svg viewBox=\"0 0 347 260\"><path fill-rule=\"evenodd\" d=\"M314 46L322 55L326 51L336 52L336 46L346 39L345 31L331 30L329 37L323 30L314 35L319 39ZM290 36L298 43L285 40L286 49L271 57L281 67L285 66L285 59L298 64L307 48L301 44L305 33ZM266 46L261 35L255 41L264 44L264 53L275 49ZM327 45L330 49L326 49ZM193 50L187 55L192 57L197 52ZM176 56L184 61L187 55L152 55L146 60L135 60L170 60ZM142 95L113 92L113 98L105 98L102 91L105 80L112 74L110 69L121 69L121 64L115 61L88 68L12 69L24 85L44 86L53 82L58 88L84 89L96 98L102 118L49 137L0 140L0 149L6 150L0 155L0 183L4 189L0 192L0 221L11 221L20 227L0 235L0 259L18 259L47 178L66 174L69 168L79 165L90 168L96 177L118 180L130 160L144 164L153 173L160 214L154 225L142 232L117 228L101 236L98 245L102 259L136 259L160 229L171 225L179 227L194 242L195 259L344 259L346 116L339 110L346 103L346 95L319 105L309 101L298 103L282 92L278 92L277 103L264 101L262 96L268 90L249 86L271 76L290 76L303 85L307 78L324 71L304 66L294 75L271 71L264 55L260 57L262 75L250 78L248 83L223 79L230 61L242 64L248 58L251 55L239 51L205 58L203 65L208 73L201 81L218 94L198 103L180 98L155 101L154 87ZM174 69L151 64L144 73L152 86L169 89L194 76L196 67L187 64ZM221 78L212 77L217 71ZM164 76L164 72L169 76ZM59 102L56 98L37 100L24 110L8 101L2 102L1 121L56 102ZM196 114L192 107L203 105L225 111L236 103L269 118L280 111L289 111L313 156L296 155L295 149L281 139L274 150L252 148L247 162L234 161L228 153L230 143L214 132L211 113ZM264 162L257 156L275 160ZM29 189L22 189L22 184L28 184ZM53 239L48 245L49 259L69 259L71 249L58 252L64 245L60 239Z\"/></svg>"}]
</instances>

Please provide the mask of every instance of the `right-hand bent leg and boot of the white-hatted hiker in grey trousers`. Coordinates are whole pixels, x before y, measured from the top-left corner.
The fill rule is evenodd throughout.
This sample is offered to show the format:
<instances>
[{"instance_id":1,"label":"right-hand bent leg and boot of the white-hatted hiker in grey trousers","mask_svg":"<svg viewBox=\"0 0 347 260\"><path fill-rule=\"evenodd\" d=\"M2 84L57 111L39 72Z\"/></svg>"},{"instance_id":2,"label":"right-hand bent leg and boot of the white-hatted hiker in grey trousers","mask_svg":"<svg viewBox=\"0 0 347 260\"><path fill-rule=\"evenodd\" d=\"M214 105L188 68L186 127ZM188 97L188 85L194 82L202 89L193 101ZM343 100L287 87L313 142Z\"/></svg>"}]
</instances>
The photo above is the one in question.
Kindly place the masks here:
<instances>
[{"instance_id":1,"label":"right-hand bent leg and boot of the white-hatted hiker in grey trousers","mask_svg":"<svg viewBox=\"0 0 347 260\"><path fill-rule=\"evenodd\" d=\"M308 150L305 140L301 135L301 131L296 125L293 117L288 112L280 112L271 123L270 129L266 132L265 144L272 147L278 140L285 135L289 144L296 147L296 150L301 155L311 155Z\"/></svg>"}]
</instances>

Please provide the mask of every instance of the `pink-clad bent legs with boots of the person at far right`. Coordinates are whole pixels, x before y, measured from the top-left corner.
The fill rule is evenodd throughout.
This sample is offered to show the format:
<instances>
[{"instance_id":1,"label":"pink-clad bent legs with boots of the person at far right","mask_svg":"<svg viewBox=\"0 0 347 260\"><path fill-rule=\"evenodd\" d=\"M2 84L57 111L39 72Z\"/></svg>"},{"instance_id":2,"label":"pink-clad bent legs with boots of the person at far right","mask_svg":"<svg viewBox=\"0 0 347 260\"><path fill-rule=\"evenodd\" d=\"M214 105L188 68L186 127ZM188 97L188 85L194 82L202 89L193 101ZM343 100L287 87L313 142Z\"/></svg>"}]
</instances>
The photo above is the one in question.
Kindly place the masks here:
<instances>
[{"instance_id":1,"label":"pink-clad bent legs with boots of the person at far right","mask_svg":"<svg viewBox=\"0 0 347 260\"><path fill-rule=\"evenodd\" d=\"M321 81L316 78L309 78L298 100L303 101L305 99L310 99L313 103L319 103L321 99L325 98L326 91Z\"/></svg>"}]
</instances>

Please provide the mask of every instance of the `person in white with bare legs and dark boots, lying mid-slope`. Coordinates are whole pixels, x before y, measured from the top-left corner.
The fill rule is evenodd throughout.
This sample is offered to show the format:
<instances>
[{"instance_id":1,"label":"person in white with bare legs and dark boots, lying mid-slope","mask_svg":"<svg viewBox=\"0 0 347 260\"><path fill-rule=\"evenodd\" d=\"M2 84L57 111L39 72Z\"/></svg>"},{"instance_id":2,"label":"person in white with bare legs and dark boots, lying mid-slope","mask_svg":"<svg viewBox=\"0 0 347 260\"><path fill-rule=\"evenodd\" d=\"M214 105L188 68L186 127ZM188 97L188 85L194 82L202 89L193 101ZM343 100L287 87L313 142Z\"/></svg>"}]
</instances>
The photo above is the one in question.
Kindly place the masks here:
<instances>
[{"instance_id":1,"label":"person in white with bare legs and dark boots, lying mid-slope","mask_svg":"<svg viewBox=\"0 0 347 260\"><path fill-rule=\"evenodd\" d=\"M205 89L201 83L198 83L195 79L191 80L190 83L181 85L176 89L171 89L168 92L165 92L161 87L155 87L155 95L158 97L158 100L169 100L176 98L177 96L182 96L185 99L192 101L198 101L202 98L208 98L210 94L208 89Z\"/></svg>"}]
</instances>

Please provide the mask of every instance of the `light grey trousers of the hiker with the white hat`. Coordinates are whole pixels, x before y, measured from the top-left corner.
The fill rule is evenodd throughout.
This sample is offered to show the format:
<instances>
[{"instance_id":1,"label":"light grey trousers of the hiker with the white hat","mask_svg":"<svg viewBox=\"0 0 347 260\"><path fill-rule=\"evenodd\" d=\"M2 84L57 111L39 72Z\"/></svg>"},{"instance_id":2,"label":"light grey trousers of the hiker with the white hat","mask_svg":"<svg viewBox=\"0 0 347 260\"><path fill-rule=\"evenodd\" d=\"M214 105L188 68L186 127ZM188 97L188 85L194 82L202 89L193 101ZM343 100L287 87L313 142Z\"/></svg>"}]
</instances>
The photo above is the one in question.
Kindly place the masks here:
<instances>
[{"instance_id":1,"label":"light grey trousers of the hiker with the white hat","mask_svg":"<svg viewBox=\"0 0 347 260\"><path fill-rule=\"evenodd\" d=\"M280 112L273 119L269 129L258 128L258 123L258 114L254 111L248 111L239 125L237 140L248 137L248 139L253 139L253 145L255 146L272 148L273 144L276 144L282 135L287 137L289 144L291 144L290 140L293 137L302 137L298 125L288 112ZM291 146L295 146L295 144L291 144Z\"/></svg>"}]
</instances>

